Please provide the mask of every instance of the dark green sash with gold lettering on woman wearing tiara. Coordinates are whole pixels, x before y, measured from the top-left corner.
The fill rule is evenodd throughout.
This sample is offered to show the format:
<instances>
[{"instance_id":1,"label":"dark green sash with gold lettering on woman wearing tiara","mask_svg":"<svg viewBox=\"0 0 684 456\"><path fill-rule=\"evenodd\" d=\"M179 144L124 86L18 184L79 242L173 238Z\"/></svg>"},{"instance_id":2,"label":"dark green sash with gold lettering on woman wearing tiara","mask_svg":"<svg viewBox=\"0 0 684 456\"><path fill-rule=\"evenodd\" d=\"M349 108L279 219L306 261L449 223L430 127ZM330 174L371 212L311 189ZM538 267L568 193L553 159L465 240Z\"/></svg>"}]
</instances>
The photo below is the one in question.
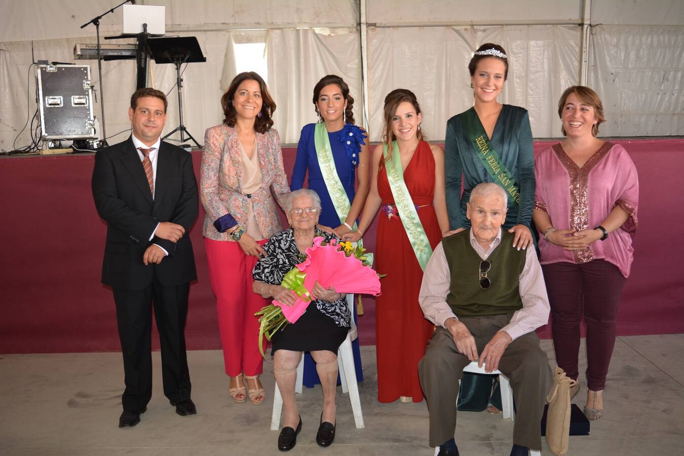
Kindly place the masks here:
<instances>
[{"instance_id":1,"label":"dark green sash with gold lettering on woman wearing tiara","mask_svg":"<svg viewBox=\"0 0 684 456\"><path fill-rule=\"evenodd\" d=\"M476 152L475 155L479 158L479 161L484 165L484 169L487 170L488 174L492 178L492 182L495 182L508 193L508 200L514 202L514 206L520 204L520 186L515 180L513 174L508 170L508 168L501 161L501 157L494 150L492 143L487 137L487 133L484 131L484 126L482 122L479 121L477 112L475 108L471 107L468 111L465 111L460 115L461 122L463 124L463 131L467 136L469 136L471 144Z\"/></svg>"}]
</instances>

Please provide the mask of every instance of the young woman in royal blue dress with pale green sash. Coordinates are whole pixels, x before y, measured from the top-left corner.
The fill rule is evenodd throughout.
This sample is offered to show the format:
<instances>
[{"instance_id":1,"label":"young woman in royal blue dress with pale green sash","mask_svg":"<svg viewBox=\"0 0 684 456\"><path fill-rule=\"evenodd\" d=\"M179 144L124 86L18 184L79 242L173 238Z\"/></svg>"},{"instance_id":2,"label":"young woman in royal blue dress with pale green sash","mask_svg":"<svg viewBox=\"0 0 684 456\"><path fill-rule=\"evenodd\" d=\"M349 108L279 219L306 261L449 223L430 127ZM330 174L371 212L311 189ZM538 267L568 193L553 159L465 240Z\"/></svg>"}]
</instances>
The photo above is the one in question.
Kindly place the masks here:
<instances>
[{"instance_id":1,"label":"young woman in royal blue dress with pale green sash","mask_svg":"<svg viewBox=\"0 0 684 456\"><path fill-rule=\"evenodd\" d=\"M356 229L370 188L370 153L364 140L367 133L354 125L354 98L341 77L328 75L318 81L313 104L319 121L302 129L290 189L304 187L308 170L307 187L321 198L319 224L333 227L342 236ZM356 379L363 381L358 338L352 343L352 351ZM304 385L313 388L317 383L315 362L306 353Z\"/></svg>"}]
</instances>

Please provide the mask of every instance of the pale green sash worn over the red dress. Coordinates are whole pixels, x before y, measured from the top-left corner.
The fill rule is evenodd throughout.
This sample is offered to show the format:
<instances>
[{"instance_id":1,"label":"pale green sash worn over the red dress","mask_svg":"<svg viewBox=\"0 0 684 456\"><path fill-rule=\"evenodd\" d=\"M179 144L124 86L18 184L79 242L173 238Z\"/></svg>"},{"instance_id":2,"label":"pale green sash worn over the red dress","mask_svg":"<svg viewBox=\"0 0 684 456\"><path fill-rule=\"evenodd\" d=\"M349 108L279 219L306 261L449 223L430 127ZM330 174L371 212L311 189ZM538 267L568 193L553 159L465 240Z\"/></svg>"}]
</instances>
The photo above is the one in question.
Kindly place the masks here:
<instances>
[{"instance_id":1,"label":"pale green sash worn over the red dress","mask_svg":"<svg viewBox=\"0 0 684 456\"><path fill-rule=\"evenodd\" d=\"M387 144L384 144L382 156L387 159ZM408 240L413 247L413 252L416 254L421 269L425 271L428 265L428 260L432 256L432 247L428 241L428 235L425 234L421 219L418 217L416 206L413 204L410 193L404 183L404 170L402 170L402 157L399 155L399 146L397 142L392 142L392 157L389 161L384 163L387 172L387 180L392 189L392 196L394 196L394 204L397 206L399 218L402 219L404 230L408 235Z\"/></svg>"}]
</instances>

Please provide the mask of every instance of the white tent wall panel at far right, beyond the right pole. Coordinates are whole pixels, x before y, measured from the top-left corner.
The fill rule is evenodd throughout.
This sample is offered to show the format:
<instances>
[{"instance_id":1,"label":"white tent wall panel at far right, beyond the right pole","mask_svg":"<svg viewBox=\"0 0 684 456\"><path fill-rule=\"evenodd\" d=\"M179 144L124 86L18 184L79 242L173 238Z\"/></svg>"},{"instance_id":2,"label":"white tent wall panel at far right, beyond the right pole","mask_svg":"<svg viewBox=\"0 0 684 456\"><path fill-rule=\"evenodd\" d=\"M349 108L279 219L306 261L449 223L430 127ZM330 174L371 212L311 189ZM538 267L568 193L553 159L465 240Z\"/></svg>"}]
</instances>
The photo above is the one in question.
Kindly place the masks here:
<instances>
[{"instance_id":1,"label":"white tent wall panel at far right, beyond the right pole","mask_svg":"<svg viewBox=\"0 0 684 456\"><path fill-rule=\"evenodd\" d=\"M589 85L601 96L601 136L684 135L684 27L597 25Z\"/></svg>"}]
</instances>

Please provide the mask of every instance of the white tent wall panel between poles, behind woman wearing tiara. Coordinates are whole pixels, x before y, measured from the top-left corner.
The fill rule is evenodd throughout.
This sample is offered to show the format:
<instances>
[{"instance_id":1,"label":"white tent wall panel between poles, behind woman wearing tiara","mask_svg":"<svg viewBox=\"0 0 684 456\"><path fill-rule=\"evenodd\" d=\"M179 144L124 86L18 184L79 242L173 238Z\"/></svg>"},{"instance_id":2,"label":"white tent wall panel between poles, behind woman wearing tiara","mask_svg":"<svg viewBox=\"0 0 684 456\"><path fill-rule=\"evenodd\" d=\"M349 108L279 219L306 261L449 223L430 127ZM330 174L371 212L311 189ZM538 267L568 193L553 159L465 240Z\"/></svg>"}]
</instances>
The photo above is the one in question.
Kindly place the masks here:
<instances>
[{"instance_id":1,"label":"white tent wall panel between poles, behind woman wearing tiara","mask_svg":"<svg viewBox=\"0 0 684 456\"><path fill-rule=\"evenodd\" d=\"M382 135L384 96L395 88L415 92L423 131L442 141L447 120L473 105L468 62L480 44L501 44L508 54L502 103L529 110L535 137L558 136L557 98L577 83L579 27L400 27L369 30L371 139Z\"/></svg>"}]
</instances>

